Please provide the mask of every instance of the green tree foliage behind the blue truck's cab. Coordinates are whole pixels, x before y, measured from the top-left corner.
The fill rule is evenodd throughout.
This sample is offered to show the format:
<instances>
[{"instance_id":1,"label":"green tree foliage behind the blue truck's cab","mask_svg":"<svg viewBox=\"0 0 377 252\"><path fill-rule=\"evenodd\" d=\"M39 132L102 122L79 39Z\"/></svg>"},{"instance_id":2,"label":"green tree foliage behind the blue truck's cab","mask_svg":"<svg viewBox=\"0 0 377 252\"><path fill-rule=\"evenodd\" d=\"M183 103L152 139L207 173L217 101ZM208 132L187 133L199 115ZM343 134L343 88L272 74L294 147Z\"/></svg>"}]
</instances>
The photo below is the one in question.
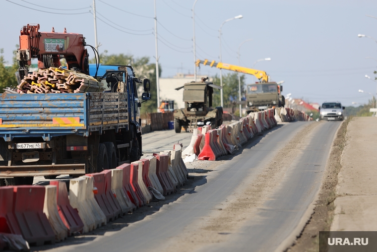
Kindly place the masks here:
<instances>
[{"instance_id":1,"label":"green tree foliage behind the blue truck's cab","mask_svg":"<svg viewBox=\"0 0 377 252\"><path fill-rule=\"evenodd\" d=\"M91 59L90 63L95 63L95 59ZM132 55L112 54L107 55L107 51L100 54L100 63L109 65L128 65L133 67L136 77L146 77L150 81L151 99L142 103L140 113L153 113L157 111L157 85L156 85L156 64L149 62L149 57L134 58ZM161 76L161 67L159 66L159 74ZM143 89L139 89L139 96Z\"/></svg>"}]
</instances>

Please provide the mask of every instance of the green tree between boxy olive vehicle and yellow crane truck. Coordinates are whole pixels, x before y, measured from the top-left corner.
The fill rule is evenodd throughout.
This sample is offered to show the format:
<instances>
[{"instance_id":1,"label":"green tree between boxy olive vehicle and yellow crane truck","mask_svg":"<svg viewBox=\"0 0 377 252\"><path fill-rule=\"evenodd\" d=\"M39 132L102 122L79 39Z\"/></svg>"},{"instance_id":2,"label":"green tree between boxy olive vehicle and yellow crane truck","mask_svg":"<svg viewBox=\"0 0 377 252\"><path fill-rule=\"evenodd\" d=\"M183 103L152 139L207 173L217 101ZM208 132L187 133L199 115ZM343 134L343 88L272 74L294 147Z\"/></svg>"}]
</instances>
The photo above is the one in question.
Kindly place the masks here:
<instances>
[{"instance_id":1,"label":"green tree between boxy olive vehicle and yellow crane truck","mask_svg":"<svg viewBox=\"0 0 377 252\"><path fill-rule=\"evenodd\" d=\"M220 86L220 77L216 74L213 77L213 84ZM245 96L245 75L241 75L241 97ZM223 75L223 102L224 108L232 108L238 98L238 73L227 73ZM213 107L221 106L220 90L213 90ZM236 105L236 108L239 106ZM235 112L236 113L236 112Z\"/></svg>"}]
</instances>

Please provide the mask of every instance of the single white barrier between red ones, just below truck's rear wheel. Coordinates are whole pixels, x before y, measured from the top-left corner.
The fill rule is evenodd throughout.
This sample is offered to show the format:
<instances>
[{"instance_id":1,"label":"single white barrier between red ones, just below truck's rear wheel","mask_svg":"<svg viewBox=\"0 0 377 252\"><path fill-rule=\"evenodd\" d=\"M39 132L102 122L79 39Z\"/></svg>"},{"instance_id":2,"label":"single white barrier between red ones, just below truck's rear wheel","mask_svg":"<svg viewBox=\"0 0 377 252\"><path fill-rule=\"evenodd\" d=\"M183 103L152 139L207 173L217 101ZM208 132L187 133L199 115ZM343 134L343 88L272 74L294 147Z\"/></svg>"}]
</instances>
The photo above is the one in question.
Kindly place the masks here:
<instances>
[{"instance_id":1,"label":"single white barrier between red ones, just below truck's rear wheel","mask_svg":"<svg viewBox=\"0 0 377 252\"><path fill-rule=\"evenodd\" d=\"M125 190L123 189L123 169L111 170L111 189L121 206L122 213L131 213L134 205L126 196Z\"/></svg>"}]
</instances>

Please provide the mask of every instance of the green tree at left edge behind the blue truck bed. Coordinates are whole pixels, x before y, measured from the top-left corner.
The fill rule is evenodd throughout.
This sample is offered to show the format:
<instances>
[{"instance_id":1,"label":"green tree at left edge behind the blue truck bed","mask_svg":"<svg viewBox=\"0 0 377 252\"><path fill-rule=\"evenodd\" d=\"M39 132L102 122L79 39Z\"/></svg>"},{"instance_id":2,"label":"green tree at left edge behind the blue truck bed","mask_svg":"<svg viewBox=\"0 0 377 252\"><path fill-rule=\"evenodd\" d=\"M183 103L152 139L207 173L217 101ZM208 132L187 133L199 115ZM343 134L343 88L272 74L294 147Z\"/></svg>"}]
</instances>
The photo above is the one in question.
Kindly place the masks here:
<instances>
[{"instance_id":1,"label":"green tree at left edge behind the blue truck bed","mask_svg":"<svg viewBox=\"0 0 377 252\"><path fill-rule=\"evenodd\" d=\"M13 62L12 65L6 65L7 62L4 60L3 56L4 50L0 49L0 93L3 93L3 88L10 86L17 86L17 79L15 72L18 69L18 63L16 60L16 51L13 51Z\"/></svg>"}]
</instances>

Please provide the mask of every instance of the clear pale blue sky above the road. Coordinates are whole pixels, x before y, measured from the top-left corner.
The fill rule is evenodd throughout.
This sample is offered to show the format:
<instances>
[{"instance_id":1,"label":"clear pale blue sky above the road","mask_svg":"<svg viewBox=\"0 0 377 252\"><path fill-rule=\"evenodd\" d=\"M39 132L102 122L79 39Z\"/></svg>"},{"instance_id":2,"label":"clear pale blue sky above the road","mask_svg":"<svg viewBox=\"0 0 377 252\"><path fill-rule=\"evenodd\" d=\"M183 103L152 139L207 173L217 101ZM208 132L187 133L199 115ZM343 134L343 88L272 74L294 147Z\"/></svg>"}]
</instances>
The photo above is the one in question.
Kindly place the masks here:
<instances>
[{"instance_id":1,"label":"clear pale blue sky above the road","mask_svg":"<svg viewBox=\"0 0 377 252\"><path fill-rule=\"evenodd\" d=\"M162 77L177 72L193 73L194 0L156 2ZM19 31L28 23L39 23L41 31L54 27L55 31L63 32L65 27L67 32L83 34L86 42L94 46L93 14L89 12L92 3L93 0L65 0L59 4L61 8L76 10L57 10L60 7L56 1L2 0L0 48L4 49L5 60L11 62L12 51L19 43ZM101 19L97 19L100 52L147 56L155 62L153 0L96 0L96 11ZM229 21L222 28L222 62L238 64L240 44L252 39L240 48L241 65L252 67L255 61L270 57L271 61L258 62L255 68L266 71L272 80L284 80L283 94L292 93L294 98L308 102L340 101L345 106L352 102L363 104L371 98L359 93L359 89L376 95L377 83L364 76L375 77L377 42L357 35L377 39L377 19L366 16L377 17L377 1L198 0L197 59L219 60L220 25L240 14L242 19ZM223 74L227 72L224 70ZM216 73L219 70L209 66L198 69L198 74ZM248 83L254 80L247 76Z\"/></svg>"}]
</instances>

